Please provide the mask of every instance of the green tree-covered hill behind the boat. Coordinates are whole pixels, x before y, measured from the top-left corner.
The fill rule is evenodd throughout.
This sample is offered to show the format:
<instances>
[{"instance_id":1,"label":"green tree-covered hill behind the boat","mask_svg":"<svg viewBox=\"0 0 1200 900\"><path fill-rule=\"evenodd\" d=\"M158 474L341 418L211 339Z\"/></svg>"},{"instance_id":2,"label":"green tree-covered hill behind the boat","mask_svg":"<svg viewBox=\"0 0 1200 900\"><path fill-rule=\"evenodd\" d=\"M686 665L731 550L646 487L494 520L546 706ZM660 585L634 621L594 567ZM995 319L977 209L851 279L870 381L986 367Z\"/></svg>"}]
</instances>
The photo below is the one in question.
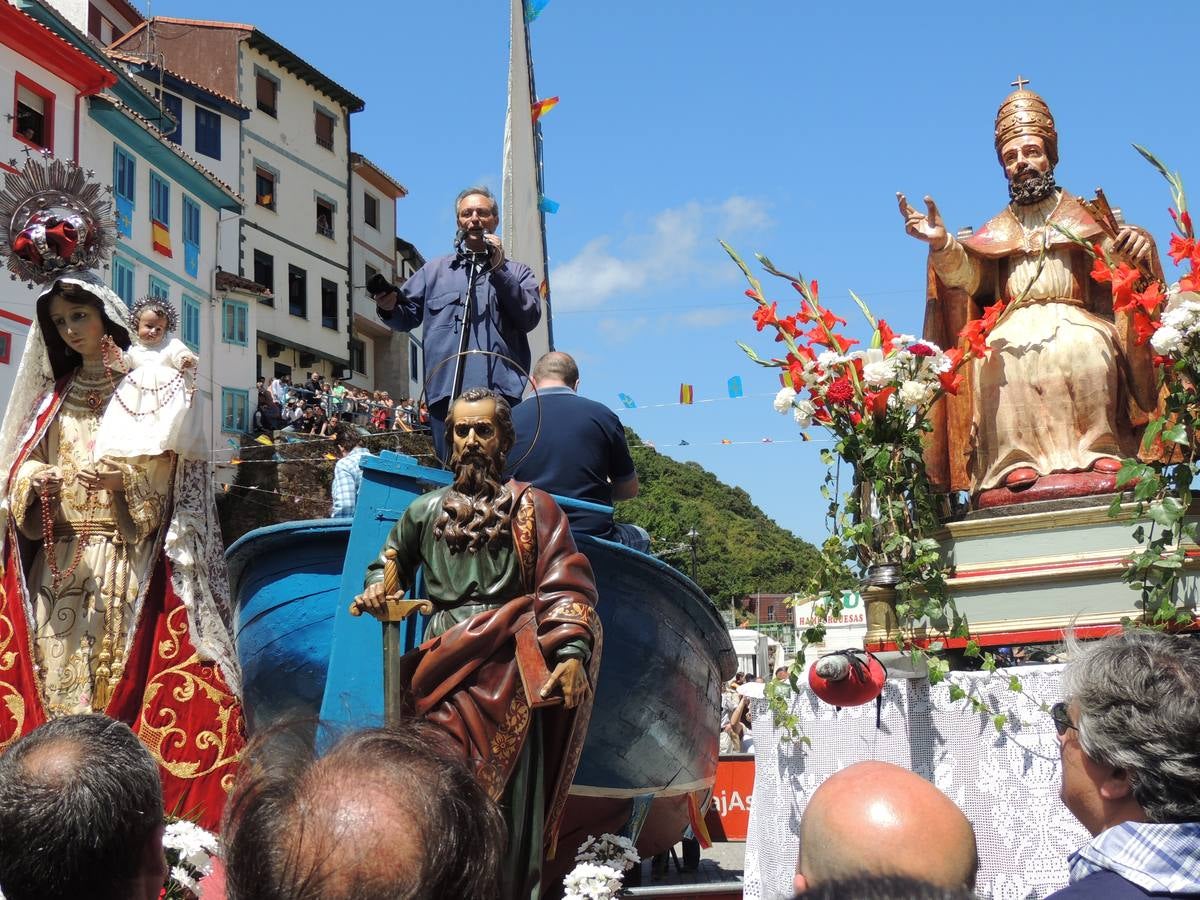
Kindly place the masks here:
<instances>
[{"instance_id":1,"label":"green tree-covered hill behind the boat","mask_svg":"<svg viewBox=\"0 0 1200 900\"><path fill-rule=\"evenodd\" d=\"M620 522L650 533L650 548L691 574L688 533L700 532L696 581L719 605L756 592L805 590L817 569L817 550L767 518L739 487L722 484L695 462L677 462L626 428L641 492L617 504ZM664 551L670 551L664 553Z\"/></svg>"}]
</instances>

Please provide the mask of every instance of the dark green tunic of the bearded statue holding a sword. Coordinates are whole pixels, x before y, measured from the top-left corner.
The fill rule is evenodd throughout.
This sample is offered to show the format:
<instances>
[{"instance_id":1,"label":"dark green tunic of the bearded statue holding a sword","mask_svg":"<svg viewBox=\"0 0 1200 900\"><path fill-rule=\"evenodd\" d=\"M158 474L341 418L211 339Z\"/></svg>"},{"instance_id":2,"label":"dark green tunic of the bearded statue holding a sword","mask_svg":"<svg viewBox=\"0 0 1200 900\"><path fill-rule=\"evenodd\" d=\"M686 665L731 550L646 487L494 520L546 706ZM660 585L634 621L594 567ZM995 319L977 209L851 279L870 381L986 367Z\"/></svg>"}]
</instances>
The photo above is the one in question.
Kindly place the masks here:
<instances>
[{"instance_id":1,"label":"dark green tunic of the bearded statue holding a sword","mask_svg":"<svg viewBox=\"0 0 1200 900\"><path fill-rule=\"evenodd\" d=\"M480 613L499 610L529 593L527 575L511 540L494 550L485 547L478 552L454 553L445 541L434 536L433 526L449 490L422 494L408 506L365 580L365 584L383 581L388 550L396 551L397 574L404 590L412 589L416 571L424 565L425 595L434 612L426 626L422 648L457 625L468 623L464 628L470 628L469 620ZM570 550L575 550L574 544ZM587 665L590 644L584 637L559 643L552 658L546 660L547 667L553 670L558 662L571 658ZM416 653L420 650L408 656ZM499 797L509 829L506 898L536 900L540 895L547 804L542 732L541 715L529 715L520 755Z\"/></svg>"}]
</instances>

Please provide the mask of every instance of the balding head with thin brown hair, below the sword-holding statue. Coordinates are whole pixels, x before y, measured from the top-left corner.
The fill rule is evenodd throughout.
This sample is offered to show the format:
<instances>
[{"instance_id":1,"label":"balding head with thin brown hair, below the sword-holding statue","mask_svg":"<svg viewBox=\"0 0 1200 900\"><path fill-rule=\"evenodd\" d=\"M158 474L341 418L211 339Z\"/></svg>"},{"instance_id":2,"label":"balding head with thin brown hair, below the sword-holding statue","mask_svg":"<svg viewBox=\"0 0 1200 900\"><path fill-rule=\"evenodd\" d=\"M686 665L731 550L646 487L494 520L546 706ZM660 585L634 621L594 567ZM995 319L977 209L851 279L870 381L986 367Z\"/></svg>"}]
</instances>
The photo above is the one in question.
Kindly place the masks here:
<instances>
[{"instance_id":1,"label":"balding head with thin brown hair, below the sword-holding statue","mask_svg":"<svg viewBox=\"0 0 1200 900\"><path fill-rule=\"evenodd\" d=\"M372 728L246 750L226 808L228 900L498 900L504 820L442 732Z\"/></svg>"}]
</instances>

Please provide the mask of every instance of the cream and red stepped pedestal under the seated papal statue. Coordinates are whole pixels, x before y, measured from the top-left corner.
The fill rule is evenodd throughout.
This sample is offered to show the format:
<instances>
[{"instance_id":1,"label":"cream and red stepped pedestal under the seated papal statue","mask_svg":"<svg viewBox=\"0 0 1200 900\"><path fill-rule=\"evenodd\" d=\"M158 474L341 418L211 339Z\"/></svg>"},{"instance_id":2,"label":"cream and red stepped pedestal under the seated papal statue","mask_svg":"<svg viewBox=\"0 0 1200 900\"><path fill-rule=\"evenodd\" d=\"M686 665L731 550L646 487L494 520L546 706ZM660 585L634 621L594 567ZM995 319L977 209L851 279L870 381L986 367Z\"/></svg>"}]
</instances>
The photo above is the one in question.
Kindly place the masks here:
<instances>
[{"instance_id":1,"label":"cream and red stepped pedestal under the seated papal statue","mask_svg":"<svg viewBox=\"0 0 1200 900\"><path fill-rule=\"evenodd\" d=\"M1110 518L1110 502L1087 497L1027 503L947 523L940 538L950 563L948 584L971 636L983 646L1055 643L1070 626L1080 637L1091 637L1108 634L1123 617L1136 619L1141 595L1121 580L1126 560L1139 550L1132 536L1135 523ZM1132 514L1133 504L1127 509ZM1151 527L1148 520L1144 523ZM1188 551L1177 590L1195 611L1200 547ZM888 649L894 638L893 632L890 640L868 646ZM962 643L946 641L949 647Z\"/></svg>"}]
</instances>

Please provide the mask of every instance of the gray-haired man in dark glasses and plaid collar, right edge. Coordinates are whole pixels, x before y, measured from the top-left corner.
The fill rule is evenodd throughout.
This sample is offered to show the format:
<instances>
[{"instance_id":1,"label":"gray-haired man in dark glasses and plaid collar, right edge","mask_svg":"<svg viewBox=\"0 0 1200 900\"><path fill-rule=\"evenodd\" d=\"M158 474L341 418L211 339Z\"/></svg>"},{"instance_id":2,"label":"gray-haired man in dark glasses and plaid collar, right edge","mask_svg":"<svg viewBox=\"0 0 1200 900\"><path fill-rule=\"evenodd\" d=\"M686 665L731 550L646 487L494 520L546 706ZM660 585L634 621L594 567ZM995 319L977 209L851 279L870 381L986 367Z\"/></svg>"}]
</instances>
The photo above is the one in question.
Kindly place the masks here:
<instances>
[{"instance_id":1,"label":"gray-haired man in dark glasses and plaid collar, right edge","mask_svg":"<svg viewBox=\"0 0 1200 900\"><path fill-rule=\"evenodd\" d=\"M1114 635L1073 654L1066 692L1062 802L1092 840L1051 898L1200 894L1200 641Z\"/></svg>"}]
</instances>

